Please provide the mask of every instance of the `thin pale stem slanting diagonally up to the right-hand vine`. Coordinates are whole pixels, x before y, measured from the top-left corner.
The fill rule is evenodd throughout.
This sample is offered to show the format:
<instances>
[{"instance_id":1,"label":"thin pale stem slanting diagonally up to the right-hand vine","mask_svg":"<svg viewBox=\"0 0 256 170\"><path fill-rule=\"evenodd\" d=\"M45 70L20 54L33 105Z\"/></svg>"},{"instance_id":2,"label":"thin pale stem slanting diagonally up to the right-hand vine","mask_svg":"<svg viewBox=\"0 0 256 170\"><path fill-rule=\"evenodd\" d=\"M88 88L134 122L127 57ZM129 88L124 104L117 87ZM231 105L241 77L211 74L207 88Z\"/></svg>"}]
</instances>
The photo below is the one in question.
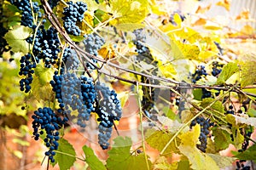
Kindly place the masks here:
<instances>
[{"instance_id":1,"label":"thin pale stem slanting diagonally up to the right-hand vine","mask_svg":"<svg viewBox=\"0 0 256 170\"><path fill-rule=\"evenodd\" d=\"M166 151L167 147L172 143L172 141L177 137L177 135L183 131L183 128L184 128L184 127L189 126L189 123L190 123L190 122L192 122L197 116L200 116L203 112L207 111L207 109L209 109L210 107L212 107L212 105L214 105L214 104L218 101L218 99L221 99L221 98L223 98L226 94L229 94L231 90L232 90L232 88L230 88L230 89L229 89L227 92L225 92L223 95L218 96L218 98L216 98L214 101L212 101L212 104L207 105L207 107L205 107L203 110L199 111L189 122L186 122L185 124L183 124L183 126L178 129L177 133L175 133L175 134L172 136L172 139L169 140L169 142L166 144L166 146L163 148L163 150L160 151L160 155L163 155L163 153Z\"/></svg>"}]
</instances>

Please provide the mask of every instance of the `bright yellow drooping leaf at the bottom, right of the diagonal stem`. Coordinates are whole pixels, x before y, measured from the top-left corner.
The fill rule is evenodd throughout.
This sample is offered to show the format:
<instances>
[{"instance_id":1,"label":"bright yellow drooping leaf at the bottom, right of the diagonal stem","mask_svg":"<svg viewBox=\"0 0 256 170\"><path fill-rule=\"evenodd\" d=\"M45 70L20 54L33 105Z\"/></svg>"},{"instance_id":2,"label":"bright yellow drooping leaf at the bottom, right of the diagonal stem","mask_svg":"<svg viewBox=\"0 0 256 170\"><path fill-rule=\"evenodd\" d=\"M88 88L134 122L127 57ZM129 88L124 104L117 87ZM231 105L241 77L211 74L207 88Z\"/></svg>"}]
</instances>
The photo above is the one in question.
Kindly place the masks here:
<instances>
[{"instance_id":1,"label":"bright yellow drooping leaf at the bottom, right of the diagonal stem","mask_svg":"<svg viewBox=\"0 0 256 170\"><path fill-rule=\"evenodd\" d=\"M216 162L210 156L207 156L196 148L196 144L199 142L199 135L199 124L192 127L191 131L180 134L181 144L178 147L180 152L189 159L192 169L205 170L208 167L211 167L212 170L219 169Z\"/></svg>"}]
</instances>

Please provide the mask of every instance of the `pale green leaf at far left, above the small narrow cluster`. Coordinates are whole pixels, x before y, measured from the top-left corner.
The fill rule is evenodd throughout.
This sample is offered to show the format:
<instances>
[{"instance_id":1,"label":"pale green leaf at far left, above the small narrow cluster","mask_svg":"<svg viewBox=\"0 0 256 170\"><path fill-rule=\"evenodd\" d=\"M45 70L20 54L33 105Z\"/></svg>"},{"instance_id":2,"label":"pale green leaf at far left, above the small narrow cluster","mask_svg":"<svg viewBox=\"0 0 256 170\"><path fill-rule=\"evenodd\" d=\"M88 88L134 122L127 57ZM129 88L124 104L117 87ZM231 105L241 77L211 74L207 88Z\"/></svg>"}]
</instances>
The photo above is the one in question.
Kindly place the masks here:
<instances>
[{"instance_id":1,"label":"pale green leaf at far left, above the small narrow cluster","mask_svg":"<svg viewBox=\"0 0 256 170\"><path fill-rule=\"evenodd\" d=\"M32 29L26 26L14 26L13 30L8 31L4 39L9 43L12 51L22 52L27 54L29 52L29 43L26 38L32 33Z\"/></svg>"}]
</instances>

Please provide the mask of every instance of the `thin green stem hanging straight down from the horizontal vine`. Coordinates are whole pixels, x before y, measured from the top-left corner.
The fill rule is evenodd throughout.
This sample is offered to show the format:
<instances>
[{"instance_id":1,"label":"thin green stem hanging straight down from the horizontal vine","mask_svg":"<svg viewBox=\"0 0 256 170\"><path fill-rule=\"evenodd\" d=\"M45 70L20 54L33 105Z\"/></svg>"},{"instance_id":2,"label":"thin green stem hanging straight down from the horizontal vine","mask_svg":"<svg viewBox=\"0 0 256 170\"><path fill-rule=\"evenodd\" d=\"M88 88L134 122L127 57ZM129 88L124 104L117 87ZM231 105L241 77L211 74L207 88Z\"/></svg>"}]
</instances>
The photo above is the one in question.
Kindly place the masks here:
<instances>
[{"instance_id":1,"label":"thin green stem hanging straight down from the horizontal vine","mask_svg":"<svg viewBox=\"0 0 256 170\"><path fill-rule=\"evenodd\" d=\"M141 95L139 93L139 85L137 84L137 98L138 98L138 101L141 100ZM141 123L141 131L142 131L142 145L143 145L143 151L144 151L144 156L145 156L145 161L147 163L147 167L148 167L148 170L149 170L149 165L148 165L148 157L147 157L147 154L146 154L146 146L145 146L145 138L144 138L144 132L143 132L143 109L142 109L142 104L141 102L138 102L138 105L139 105L139 113L140 113L140 123Z\"/></svg>"}]
</instances>

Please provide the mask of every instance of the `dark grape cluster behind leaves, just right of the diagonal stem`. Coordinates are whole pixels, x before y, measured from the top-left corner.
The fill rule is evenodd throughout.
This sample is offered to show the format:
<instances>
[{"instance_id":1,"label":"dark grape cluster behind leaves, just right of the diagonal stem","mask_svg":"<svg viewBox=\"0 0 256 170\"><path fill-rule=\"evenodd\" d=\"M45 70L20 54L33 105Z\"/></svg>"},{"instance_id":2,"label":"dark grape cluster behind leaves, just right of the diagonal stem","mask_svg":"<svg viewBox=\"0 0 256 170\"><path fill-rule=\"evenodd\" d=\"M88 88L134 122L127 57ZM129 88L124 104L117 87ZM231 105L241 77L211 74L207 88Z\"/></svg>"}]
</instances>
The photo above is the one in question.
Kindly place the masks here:
<instances>
[{"instance_id":1,"label":"dark grape cluster behind leaves, just right of the diagonal stem","mask_svg":"<svg viewBox=\"0 0 256 170\"><path fill-rule=\"evenodd\" d=\"M206 152L207 149L207 135L209 132L209 127L212 126L212 123L210 123L208 120L206 120L203 116L198 116L193 120L190 124L190 128L194 127L195 124L198 123L201 126L201 133L199 136L199 140L201 144L196 144L197 148L201 150L202 152Z\"/></svg>"}]
</instances>

